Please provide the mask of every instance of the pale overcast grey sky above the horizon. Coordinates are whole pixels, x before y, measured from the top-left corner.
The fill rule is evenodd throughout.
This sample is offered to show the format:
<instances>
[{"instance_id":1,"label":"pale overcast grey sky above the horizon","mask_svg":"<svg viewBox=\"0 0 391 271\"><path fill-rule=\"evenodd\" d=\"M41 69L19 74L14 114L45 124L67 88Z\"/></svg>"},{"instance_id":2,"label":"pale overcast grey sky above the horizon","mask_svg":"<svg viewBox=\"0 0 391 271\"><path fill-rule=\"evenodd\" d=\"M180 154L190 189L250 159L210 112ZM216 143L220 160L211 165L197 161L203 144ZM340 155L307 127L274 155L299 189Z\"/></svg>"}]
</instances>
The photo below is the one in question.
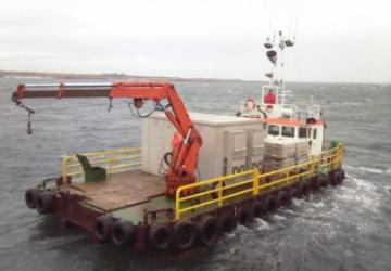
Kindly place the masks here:
<instances>
[{"instance_id":1,"label":"pale overcast grey sky above the horizon","mask_svg":"<svg viewBox=\"0 0 391 271\"><path fill-rule=\"evenodd\" d=\"M389 0L0 0L0 69L264 79L289 31L287 79L391 82Z\"/></svg>"}]
</instances>

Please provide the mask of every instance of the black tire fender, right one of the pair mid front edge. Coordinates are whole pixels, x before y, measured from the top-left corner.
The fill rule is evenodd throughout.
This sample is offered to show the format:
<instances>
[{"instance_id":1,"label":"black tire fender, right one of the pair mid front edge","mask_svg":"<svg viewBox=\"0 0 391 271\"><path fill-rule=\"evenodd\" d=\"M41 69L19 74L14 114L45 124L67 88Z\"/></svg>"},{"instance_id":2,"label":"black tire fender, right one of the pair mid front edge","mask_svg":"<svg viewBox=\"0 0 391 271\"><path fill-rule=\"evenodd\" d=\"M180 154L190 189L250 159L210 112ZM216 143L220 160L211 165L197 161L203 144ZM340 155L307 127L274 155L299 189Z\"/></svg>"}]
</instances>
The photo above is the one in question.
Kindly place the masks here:
<instances>
[{"instance_id":1,"label":"black tire fender, right one of the pair mid front edge","mask_svg":"<svg viewBox=\"0 0 391 271\"><path fill-rule=\"evenodd\" d=\"M133 244L136 241L136 227L128 220L117 220L111 225L110 236L114 245Z\"/></svg>"}]
</instances>

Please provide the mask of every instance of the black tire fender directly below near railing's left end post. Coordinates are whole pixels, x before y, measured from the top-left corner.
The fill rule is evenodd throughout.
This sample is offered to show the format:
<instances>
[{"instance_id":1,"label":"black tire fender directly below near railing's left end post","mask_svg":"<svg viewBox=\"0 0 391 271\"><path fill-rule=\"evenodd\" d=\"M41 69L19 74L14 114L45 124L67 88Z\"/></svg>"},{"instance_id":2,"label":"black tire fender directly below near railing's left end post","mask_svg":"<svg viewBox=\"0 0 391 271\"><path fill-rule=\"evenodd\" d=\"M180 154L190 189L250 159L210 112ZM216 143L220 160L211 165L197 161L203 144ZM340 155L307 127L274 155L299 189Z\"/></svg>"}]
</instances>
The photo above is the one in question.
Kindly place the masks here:
<instances>
[{"instance_id":1,"label":"black tire fender directly below near railing's left end post","mask_svg":"<svg viewBox=\"0 0 391 271\"><path fill-rule=\"evenodd\" d=\"M186 250L192 247L197 241L199 229L190 220L180 220L174 225L174 242L176 247Z\"/></svg>"}]
</instances>

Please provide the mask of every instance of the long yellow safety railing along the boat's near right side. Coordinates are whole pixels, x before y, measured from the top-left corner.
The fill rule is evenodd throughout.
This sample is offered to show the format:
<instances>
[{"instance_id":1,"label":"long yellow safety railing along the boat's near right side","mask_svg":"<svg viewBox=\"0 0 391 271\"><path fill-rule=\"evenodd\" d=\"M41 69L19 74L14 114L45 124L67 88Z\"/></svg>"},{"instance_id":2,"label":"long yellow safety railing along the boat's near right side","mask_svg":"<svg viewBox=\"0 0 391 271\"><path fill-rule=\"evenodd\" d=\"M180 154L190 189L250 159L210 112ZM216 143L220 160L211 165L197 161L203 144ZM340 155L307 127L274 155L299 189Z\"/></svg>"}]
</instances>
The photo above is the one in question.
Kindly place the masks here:
<instances>
[{"instance_id":1,"label":"long yellow safety railing along the boat's near right side","mask_svg":"<svg viewBox=\"0 0 391 271\"><path fill-rule=\"evenodd\" d=\"M313 177L324 170L339 168L342 158L343 145L339 143L337 147L324 151L319 156L294 166L264 173L257 169L248 170L179 186L176 191L175 220L179 220L185 212L194 212L205 207L222 207L226 203L242 199L244 195L256 196L268 190L289 185L302 178ZM230 191L232 189L236 191ZM185 195L188 191L193 193Z\"/></svg>"}]
</instances>

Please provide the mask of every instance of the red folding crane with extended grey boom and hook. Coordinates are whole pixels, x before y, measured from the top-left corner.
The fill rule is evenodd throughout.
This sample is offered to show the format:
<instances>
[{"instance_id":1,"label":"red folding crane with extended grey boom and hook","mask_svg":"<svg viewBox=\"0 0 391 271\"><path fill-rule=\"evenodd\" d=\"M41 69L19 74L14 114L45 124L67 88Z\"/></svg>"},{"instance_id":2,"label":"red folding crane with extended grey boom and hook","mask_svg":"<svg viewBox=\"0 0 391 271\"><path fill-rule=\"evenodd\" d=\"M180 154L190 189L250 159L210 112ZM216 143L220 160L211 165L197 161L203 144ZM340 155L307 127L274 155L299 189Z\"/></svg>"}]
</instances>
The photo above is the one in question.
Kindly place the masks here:
<instances>
[{"instance_id":1,"label":"red folding crane with extended grey boom and hook","mask_svg":"<svg viewBox=\"0 0 391 271\"><path fill-rule=\"evenodd\" d=\"M202 140L194 128L185 105L176 92L174 85L168 82L131 82L113 83L53 83L53 85L20 85L12 93L12 101L30 114L21 100L25 98L98 98L108 96L134 99L134 106L142 107L144 100L151 100L164 111L168 120L181 136L181 141L173 146L172 159L165 172L166 193L174 196L178 186L195 181L194 170L198 164ZM168 104L163 106L162 100ZM30 133L30 122L27 132Z\"/></svg>"}]
</instances>

